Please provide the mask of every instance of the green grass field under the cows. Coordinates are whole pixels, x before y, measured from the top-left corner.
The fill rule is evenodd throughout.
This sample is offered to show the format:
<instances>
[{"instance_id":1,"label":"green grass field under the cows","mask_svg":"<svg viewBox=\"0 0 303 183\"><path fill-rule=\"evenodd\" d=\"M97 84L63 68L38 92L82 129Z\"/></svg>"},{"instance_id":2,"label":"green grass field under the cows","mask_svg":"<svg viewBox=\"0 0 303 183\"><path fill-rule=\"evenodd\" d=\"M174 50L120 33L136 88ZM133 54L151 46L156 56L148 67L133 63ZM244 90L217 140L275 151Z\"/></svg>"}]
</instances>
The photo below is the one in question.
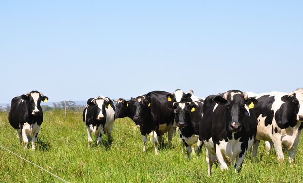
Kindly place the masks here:
<instances>
[{"instance_id":1,"label":"green grass field under the cows","mask_svg":"<svg viewBox=\"0 0 303 183\"><path fill-rule=\"evenodd\" d=\"M207 177L205 150L200 157L181 154L180 142L173 137L172 146L159 148L154 154L151 142L142 152L143 142L139 129L129 118L117 119L112 132L113 143L103 137L102 145L87 147L87 132L81 112L44 112L44 121L37 139L36 151L24 149L16 131L9 125L7 113L0 113L0 145L36 163L72 183L97 182L176 182L176 183L299 183L303 182L303 141L300 140L296 163L277 164L275 152L265 153L260 143L259 162L251 163L246 156L242 170L234 173L233 166L222 172L213 166ZM164 138L167 144L167 136ZM203 147L204 148L204 147ZM287 154L284 153L285 160ZM30 163L0 148L0 182L36 183L61 182Z\"/></svg>"}]
</instances>

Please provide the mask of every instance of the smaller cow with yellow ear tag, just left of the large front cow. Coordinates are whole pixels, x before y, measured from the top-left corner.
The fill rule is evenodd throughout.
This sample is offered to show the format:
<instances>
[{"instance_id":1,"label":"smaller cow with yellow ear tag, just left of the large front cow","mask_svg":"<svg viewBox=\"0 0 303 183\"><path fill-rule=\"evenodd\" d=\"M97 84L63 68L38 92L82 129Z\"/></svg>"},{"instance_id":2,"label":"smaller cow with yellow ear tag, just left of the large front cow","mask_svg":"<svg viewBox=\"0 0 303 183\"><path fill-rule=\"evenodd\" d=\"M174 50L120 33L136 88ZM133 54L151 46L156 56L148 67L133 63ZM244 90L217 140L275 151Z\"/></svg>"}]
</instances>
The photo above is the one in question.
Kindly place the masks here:
<instances>
[{"instance_id":1,"label":"smaller cow with yellow ear tag, just left of the large front cow","mask_svg":"<svg viewBox=\"0 0 303 183\"><path fill-rule=\"evenodd\" d=\"M203 101L174 102L172 107L175 112L174 119L179 128L182 151L185 145L187 158L190 159L191 151L194 152L193 145L198 142L199 139L199 123L203 114ZM198 144L195 152L199 152L201 147L201 143Z\"/></svg>"}]
</instances>

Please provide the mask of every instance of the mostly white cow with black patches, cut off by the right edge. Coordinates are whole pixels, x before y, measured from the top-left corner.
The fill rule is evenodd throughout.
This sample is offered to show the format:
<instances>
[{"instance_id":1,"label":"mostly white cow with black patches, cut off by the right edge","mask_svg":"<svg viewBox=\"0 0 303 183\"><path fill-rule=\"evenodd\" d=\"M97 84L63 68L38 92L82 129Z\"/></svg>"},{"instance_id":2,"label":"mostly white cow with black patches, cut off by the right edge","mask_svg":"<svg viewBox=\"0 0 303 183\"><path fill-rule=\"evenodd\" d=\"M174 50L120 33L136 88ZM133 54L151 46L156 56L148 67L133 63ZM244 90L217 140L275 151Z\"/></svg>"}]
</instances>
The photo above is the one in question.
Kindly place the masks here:
<instances>
[{"instance_id":1,"label":"mostly white cow with black patches, cut off by the right edge","mask_svg":"<svg viewBox=\"0 0 303 183\"><path fill-rule=\"evenodd\" d=\"M279 163L284 161L282 146L288 151L288 160L295 163L295 155L302 131L303 89L291 93L270 92L254 95L259 103L255 106L258 119L256 140L252 156L256 157L260 140L266 142L267 151L273 143ZM254 158L256 159L256 158Z\"/></svg>"}]
</instances>

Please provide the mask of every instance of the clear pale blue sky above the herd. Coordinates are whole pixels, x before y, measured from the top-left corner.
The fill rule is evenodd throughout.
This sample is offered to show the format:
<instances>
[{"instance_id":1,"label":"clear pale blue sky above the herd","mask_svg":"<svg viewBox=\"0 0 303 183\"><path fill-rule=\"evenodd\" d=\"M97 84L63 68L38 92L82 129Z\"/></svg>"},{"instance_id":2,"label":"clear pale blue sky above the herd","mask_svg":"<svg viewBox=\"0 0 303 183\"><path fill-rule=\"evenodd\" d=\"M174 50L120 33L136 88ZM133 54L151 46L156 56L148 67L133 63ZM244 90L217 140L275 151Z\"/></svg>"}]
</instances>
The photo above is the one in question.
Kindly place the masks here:
<instances>
[{"instance_id":1,"label":"clear pale blue sky above the herd","mask_svg":"<svg viewBox=\"0 0 303 183\"><path fill-rule=\"evenodd\" d=\"M0 103L303 87L303 1L0 2Z\"/></svg>"}]
</instances>

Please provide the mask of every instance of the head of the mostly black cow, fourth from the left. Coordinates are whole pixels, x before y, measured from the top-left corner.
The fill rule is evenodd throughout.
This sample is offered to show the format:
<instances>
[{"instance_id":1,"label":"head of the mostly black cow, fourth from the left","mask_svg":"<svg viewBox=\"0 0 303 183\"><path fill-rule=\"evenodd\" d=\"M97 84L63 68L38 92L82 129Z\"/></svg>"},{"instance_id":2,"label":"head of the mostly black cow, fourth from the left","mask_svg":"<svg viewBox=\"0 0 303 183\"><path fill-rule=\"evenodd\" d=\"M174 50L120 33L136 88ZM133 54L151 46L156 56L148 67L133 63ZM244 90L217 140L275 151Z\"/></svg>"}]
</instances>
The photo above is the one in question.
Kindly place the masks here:
<instances>
[{"instance_id":1,"label":"head of the mostly black cow, fourth from the left","mask_svg":"<svg viewBox=\"0 0 303 183\"><path fill-rule=\"evenodd\" d=\"M146 112L150 111L151 107L151 98L150 97L137 97L134 99L134 108L135 108L135 115L133 117L133 121L136 123L141 123L144 115L147 114Z\"/></svg>"}]
</instances>

